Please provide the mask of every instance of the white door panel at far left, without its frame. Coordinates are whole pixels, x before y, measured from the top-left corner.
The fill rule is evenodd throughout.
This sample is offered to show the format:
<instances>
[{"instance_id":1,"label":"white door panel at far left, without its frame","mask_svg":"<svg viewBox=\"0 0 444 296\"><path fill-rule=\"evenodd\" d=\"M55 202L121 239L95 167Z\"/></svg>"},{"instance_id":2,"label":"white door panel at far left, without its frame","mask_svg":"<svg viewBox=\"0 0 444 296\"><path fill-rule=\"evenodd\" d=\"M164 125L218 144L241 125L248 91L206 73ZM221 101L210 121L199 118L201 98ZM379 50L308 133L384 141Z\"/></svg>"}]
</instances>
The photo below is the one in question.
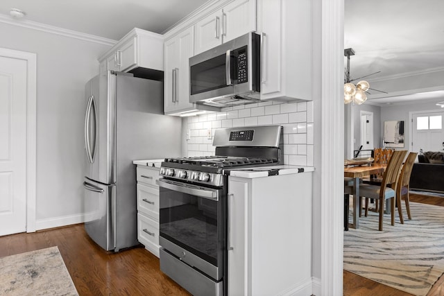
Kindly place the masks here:
<instances>
[{"instance_id":1,"label":"white door panel at far left, without its frame","mask_svg":"<svg viewBox=\"0 0 444 296\"><path fill-rule=\"evenodd\" d=\"M26 67L0 56L0 236L26 231Z\"/></svg>"}]
</instances>

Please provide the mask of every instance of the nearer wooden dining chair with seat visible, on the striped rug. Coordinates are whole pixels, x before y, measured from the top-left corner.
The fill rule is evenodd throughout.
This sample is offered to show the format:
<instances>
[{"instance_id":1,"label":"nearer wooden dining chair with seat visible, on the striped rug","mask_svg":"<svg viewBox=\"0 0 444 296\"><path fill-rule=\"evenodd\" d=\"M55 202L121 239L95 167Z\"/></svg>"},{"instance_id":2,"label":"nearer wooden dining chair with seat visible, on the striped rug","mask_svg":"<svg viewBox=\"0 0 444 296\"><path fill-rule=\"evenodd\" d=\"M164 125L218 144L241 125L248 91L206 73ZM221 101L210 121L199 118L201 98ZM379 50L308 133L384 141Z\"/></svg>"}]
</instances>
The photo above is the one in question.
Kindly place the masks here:
<instances>
[{"instance_id":1,"label":"nearer wooden dining chair with seat visible, on the striped rug","mask_svg":"<svg viewBox=\"0 0 444 296\"><path fill-rule=\"evenodd\" d=\"M395 189L406 154L407 150L395 150L393 152L384 171L381 185L361 184L359 186L360 198L366 198L365 216L368 214L368 200L374 198L379 201L379 231L382 231L384 220L384 202L388 199L391 199L391 225L395 225ZM391 188L387 185L391 185Z\"/></svg>"}]
</instances>

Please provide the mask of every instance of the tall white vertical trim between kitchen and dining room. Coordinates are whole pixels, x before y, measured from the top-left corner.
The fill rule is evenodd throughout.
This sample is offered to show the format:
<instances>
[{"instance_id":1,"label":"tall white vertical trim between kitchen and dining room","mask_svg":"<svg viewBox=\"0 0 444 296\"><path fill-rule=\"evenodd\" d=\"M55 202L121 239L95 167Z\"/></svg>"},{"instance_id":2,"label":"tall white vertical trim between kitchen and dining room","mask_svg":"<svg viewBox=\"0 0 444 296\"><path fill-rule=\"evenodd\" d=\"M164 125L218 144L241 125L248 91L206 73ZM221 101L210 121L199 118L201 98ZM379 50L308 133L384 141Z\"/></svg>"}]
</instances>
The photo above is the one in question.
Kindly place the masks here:
<instances>
[{"instance_id":1,"label":"tall white vertical trim between kitchen and dining room","mask_svg":"<svg viewBox=\"0 0 444 296\"><path fill-rule=\"evenodd\" d=\"M321 3L320 295L343 295L344 0Z\"/></svg>"}]
</instances>

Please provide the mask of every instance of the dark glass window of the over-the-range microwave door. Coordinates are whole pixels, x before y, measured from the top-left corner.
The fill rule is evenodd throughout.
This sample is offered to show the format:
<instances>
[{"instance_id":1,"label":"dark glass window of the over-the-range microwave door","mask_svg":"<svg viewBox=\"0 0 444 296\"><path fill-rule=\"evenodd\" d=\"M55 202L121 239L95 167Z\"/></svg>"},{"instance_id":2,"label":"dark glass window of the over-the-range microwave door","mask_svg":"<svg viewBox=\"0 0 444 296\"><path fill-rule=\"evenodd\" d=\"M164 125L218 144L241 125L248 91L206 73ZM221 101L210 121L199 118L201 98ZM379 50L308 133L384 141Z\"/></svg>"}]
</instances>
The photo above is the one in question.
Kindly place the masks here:
<instances>
[{"instance_id":1,"label":"dark glass window of the over-the-range microwave door","mask_svg":"<svg viewBox=\"0 0 444 296\"><path fill-rule=\"evenodd\" d=\"M191 95L227 87L225 59L226 55L219 55L190 67Z\"/></svg>"}]
</instances>

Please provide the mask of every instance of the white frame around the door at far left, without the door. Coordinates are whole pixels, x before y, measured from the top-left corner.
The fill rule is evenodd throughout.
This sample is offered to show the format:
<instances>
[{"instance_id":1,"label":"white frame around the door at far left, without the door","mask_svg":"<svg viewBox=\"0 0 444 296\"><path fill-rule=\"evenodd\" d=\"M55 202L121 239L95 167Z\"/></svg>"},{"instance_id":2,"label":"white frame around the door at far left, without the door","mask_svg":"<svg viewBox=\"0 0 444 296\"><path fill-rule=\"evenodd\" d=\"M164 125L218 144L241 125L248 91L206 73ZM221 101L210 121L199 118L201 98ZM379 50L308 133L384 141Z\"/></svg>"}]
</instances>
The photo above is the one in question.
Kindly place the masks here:
<instances>
[{"instance_id":1,"label":"white frame around the door at far left, without the door","mask_svg":"<svg viewBox=\"0 0 444 296\"><path fill-rule=\"evenodd\" d=\"M37 54L0 48L0 56L26 61L26 232L35 232Z\"/></svg>"}]
</instances>

